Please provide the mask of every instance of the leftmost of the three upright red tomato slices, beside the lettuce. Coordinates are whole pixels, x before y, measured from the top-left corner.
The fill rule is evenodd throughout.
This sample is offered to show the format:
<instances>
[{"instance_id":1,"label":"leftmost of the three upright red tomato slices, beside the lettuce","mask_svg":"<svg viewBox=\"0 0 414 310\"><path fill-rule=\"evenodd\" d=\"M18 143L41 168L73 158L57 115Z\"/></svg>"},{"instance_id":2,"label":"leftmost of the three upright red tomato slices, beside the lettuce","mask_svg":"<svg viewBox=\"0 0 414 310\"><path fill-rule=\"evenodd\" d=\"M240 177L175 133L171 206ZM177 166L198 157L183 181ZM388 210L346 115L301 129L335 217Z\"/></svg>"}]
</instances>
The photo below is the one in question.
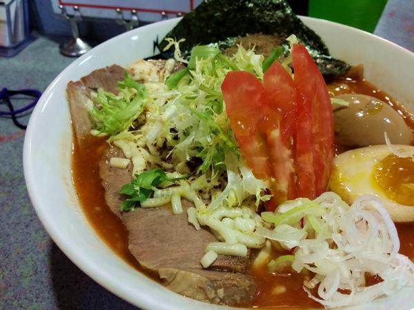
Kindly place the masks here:
<instances>
[{"instance_id":1,"label":"leftmost of the three upright red tomato slices, beside the lettuce","mask_svg":"<svg viewBox=\"0 0 414 310\"><path fill-rule=\"evenodd\" d=\"M221 91L231 128L248 167L257 178L270 178L266 137L257 131L257 123L263 116L262 83L253 74L232 71L221 84Z\"/></svg>"}]
</instances>

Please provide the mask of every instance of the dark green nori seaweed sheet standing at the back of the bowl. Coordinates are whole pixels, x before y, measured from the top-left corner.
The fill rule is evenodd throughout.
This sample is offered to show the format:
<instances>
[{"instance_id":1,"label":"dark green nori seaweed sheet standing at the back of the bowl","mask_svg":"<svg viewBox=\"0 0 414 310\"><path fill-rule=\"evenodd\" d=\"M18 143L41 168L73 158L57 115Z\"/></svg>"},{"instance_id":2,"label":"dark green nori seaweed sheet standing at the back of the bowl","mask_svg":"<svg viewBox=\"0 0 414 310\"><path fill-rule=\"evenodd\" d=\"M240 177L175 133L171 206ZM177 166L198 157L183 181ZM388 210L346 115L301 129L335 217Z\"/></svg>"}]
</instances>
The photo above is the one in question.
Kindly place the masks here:
<instances>
[{"instance_id":1,"label":"dark green nori seaweed sheet standing at the back of the bowl","mask_svg":"<svg viewBox=\"0 0 414 310\"><path fill-rule=\"evenodd\" d=\"M238 37L259 32L283 39L295 34L326 77L341 76L351 68L344 61L331 58L322 39L302 23L284 0L204 0L181 19L166 38L186 39L180 43L180 50L188 56L197 44L215 44L224 49L234 45ZM161 40L159 50L166 44ZM286 50L288 44L283 45ZM161 54L170 57L172 52Z\"/></svg>"}]
</instances>

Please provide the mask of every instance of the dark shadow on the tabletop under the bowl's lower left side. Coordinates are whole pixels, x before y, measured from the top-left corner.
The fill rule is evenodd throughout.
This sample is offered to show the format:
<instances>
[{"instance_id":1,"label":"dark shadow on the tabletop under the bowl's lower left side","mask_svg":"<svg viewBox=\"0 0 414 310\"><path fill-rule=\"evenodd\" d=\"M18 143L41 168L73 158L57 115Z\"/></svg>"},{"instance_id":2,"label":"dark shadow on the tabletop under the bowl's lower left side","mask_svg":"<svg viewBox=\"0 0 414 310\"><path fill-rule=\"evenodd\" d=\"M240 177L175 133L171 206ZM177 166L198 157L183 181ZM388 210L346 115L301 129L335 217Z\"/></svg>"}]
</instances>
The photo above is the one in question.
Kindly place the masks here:
<instances>
[{"instance_id":1,"label":"dark shadow on the tabletop under the bowl's lower left side","mask_svg":"<svg viewBox=\"0 0 414 310\"><path fill-rule=\"evenodd\" d=\"M54 242L50 247L50 276L57 307L61 310L137 309L89 278Z\"/></svg>"}]
</instances>

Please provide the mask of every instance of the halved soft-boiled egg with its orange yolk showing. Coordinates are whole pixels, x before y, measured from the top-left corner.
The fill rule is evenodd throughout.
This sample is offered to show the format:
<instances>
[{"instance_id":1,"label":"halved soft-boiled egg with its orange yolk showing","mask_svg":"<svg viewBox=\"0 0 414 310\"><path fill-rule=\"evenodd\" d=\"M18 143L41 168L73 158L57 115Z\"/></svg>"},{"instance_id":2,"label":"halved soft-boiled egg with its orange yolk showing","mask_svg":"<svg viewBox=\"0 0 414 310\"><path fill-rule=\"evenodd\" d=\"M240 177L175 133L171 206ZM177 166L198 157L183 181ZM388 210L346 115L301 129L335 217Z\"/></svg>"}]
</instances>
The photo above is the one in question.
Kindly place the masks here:
<instances>
[{"instance_id":1,"label":"halved soft-boiled egg with its orange yolk showing","mask_svg":"<svg viewBox=\"0 0 414 310\"><path fill-rule=\"evenodd\" d=\"M414 154L414 147L393 145ZM335 157L330 189L351 205L361 195L379 197L394 222L414 221L414 157L399 157L387 145L352 149Z\"/></svg>"}]
</instances>

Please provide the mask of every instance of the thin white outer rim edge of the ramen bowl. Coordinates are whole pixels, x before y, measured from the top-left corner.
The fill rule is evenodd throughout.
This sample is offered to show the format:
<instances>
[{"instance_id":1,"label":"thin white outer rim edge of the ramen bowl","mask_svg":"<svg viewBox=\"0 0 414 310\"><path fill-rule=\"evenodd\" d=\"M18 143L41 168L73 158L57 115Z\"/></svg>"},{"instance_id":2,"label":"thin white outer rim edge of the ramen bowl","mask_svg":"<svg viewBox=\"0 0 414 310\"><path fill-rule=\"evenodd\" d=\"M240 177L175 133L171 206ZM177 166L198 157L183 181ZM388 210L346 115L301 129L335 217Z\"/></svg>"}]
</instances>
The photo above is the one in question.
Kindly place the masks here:
<instances>
[{"instance_id":1,"label":"thin white outer rim edge of the ramen bowl","mask_svg":"<svg viewBox=\"0 0 414 310\"><path fill-rule=\"evenodd\" d=\"M181 17L175 18L175 19L168 19L166 21L159 21L157 23L151 23L149 25L145 25L140 28L136 28L134 30L130 30L128 32L124 32L122 34L119 34L117 37L113 37L109 39L108 41L105 41L93 48L91 51L98 52L99 50L105 49L108 45L111 45L115 41L124 38L124 37L130 37L131 34L137 32L141 32L141 29L145 28L146 30L152 30L152 28L157 29L159 28L159 25L162 23L175 23L181 19ZM378 37L375 34L371 34L369 32L366 32L364 30L359 30L357 28L353 28L348 25L343 25L341 23L335 23L333 21L327 21L325 19L316 19L313 17L300 17L302 21L306 23L306 21L315 21L319 23L325 23L329 27L333 26L334 28L339 28L339 30L344 29L348 31L353 32L362 32L365 36L368 37L375 37L378 41L392 45L393 48L400 50L400 52L408 53L409 55L413 56L414 53L407 50L406 48L403 48L400 45L397 45L387 39L384 39L382 37ZM116 296L119 296L120 298L126 300L127 302L130 302L131 304L135 304L139 307L144 307L146 309L170 309L170 304L165 304L163 302L162 298L157 298L155 296L151 296L150 294L146 293L146 291L132 291L131 289L128 289L126 285L120 285L118 282L113 281L112 276L108 271L99 268L98 265L95 265L92 263L90 259L88 259L88 256L81 255L79 251L76 250L76 247L73 247L70 245L70 242L68 242L68 238L66 238L63 234L59 233L59 227L56 225L53 225L53 221L50 218L50 215L46 213L46 211L43 209L42 205L45 203L45 198L39 194L39 192L36 191L36 187L38 186L36 184L36 178L34 174L34 169L32 168L32 165L30 165L31 157L32 157L32 139L34 135L34 128L36 127L37 123L41 121L41 110L43 109L44 105L48 101L48 96L52 93L55 85L59 83L59 81L71 70L71 68L80 65L82 61L86 60L90 56L90 52L87 52L86 54L83 54L78 59L70 63L65 69L63 69L56 77L53 79L53 81L48 85L46 90L43 92L41 98L39 99L39 102L37 103L36 107L34 107L34 110L32 112L32 115L30 116L30 120L28 122L28 127L26 130L24 142L23 142L23 174L26 182L26 187L28 189L28 194L30 197L30 201L32 203L32 206L34 207L34 210L36 211L36 214L41 221L43 227L48 232L48 235L52 240L56 243L56 245L63 251L63 253L77 266L81 271L86 273L90 278L95 280L99 285L102 287L105 287L108 291L111 293L114 293ZM96 68L97 69L97 68ZM72 187L73 184L70 186ZM89 223L88 223L89 224ZM89 224L90 225L90 224ZM93 229L93 227L91 227ZM101 238L98 236L98 238ZM106 245L107 246L107 245ZM115 254L116 255L116 254ZM119 258L121 260L121 258ZM167 291L168 289L166 289ZM181 296L181 295L179 295ZM181 296L183 297L183 296ZM185 298L185 297L184 297ZM188 299L188 298L186 298ZM194 302L199 302L197 300L192 300ZM205 304L204 302L202 302ZM195 305L196 303L194 303ZM215 307L215 305L210 304L211 307ZM190 308L188 308L190 309ZM221 307L222 309L222 307Z\"/></svg>"}]
</instances>

